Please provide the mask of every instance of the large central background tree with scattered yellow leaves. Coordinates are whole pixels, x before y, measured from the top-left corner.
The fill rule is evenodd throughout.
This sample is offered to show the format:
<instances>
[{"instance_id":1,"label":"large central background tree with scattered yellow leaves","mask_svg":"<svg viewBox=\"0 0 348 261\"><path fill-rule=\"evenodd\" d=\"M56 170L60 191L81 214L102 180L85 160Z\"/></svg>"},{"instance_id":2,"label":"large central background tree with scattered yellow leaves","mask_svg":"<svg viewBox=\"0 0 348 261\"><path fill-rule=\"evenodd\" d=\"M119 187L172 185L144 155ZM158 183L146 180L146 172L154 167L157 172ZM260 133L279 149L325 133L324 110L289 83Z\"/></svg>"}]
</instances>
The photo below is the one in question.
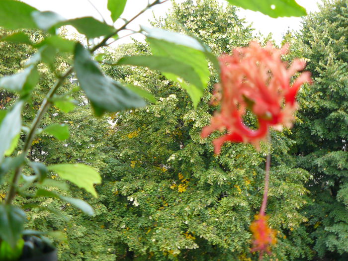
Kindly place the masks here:
<instances>
[{"instance_id":1,"label":"large central background tree with scattered yellow leaves","mask_svg":"<svg viewBox=\"0 0 348 261\"><path fill-rule=\"evenodd\" d=\"M202 37L216 54L253 39L234 7L226 11L211 1L174 5L168 17L159 20L164 28ZM148 47L128 45L106 55L104 71L151 91L157 102L113 117L112 155L98 187L109 213L95 220L115 237L116 260L258 259L250 254L249 225L261 202L264 156L252 146L229 144L215 157L211 140L200 138L214 110L208 101L216 78L194 109L185 91L156 72L107 66L121 51L144 54ZM249 122L255 124L252 115ZM272 136L268 213L278 231L274 255L304 258L308 239L298 225L306 219L297 209L305 203L308 173L287 156L292 141Z\"/></svg>"}]
</instances>

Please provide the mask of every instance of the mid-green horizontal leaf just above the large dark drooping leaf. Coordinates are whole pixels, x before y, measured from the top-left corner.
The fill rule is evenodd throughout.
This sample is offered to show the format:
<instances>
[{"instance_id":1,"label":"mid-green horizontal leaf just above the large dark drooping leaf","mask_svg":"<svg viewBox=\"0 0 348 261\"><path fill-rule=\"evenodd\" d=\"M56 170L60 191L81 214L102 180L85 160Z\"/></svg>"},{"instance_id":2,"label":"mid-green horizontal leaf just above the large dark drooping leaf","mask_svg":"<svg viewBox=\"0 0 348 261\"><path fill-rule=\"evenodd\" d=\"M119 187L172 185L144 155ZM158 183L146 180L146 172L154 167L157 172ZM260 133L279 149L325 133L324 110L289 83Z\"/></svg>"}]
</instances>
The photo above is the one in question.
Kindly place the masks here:
<instances>
[{"instance_id":1,"label":"mid-green horizontal leaf just above the large dark drooping leaf","mask_svg":"<svg viewBox=\"0 0 348 261\"><path fill-rule=\"evenodd\" d=\"M103 35L110 35L116 31L114 27L106 23L100 22L99 20L96 20L93 17L81 17L71 19L65 22L60 22L57 25L72 25L79 31L79 33L86 35L88 39L100 37Z\"/></svg>"}]
</instances>

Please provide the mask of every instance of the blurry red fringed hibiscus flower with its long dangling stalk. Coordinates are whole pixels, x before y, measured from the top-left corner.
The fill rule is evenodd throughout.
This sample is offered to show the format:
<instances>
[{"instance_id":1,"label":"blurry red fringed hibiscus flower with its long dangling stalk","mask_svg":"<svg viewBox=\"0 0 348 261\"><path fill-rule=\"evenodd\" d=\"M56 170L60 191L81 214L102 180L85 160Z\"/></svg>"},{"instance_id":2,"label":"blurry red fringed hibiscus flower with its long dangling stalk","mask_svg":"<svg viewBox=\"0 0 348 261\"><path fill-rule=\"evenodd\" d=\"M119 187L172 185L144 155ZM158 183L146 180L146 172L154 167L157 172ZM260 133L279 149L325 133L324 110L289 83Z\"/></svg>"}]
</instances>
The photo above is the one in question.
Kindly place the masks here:
<instances>
[{"instance_id":1,"label":"blurry red fringed hibiscus flower with its long dangling stalk","mask_svg":"<svg viewBox=\"0 0 348 261\"><path fill-rule=\"evenodd\" d=\"M221 103L219 112L215 112L209 126L202 129L201 137L208 137L213 131L225 131L226 134L213 141L215 154L228 141L253 144L257 149L260 141L270 142L269 127L281 131L283 126L290 128L294 113L298 108L296 94L304 83L309 83L310 73L302 73L291 85L291 77L305 68L305 62L294 60L288 67L281 56L288 51L288 45L277 49L268 43L264 48L256 42L249 47L236 48L232 55L219 58L221 83L216 84L211 103ZM247 109L254 113L258 128L251 129L243 122ZM268 145L269 146L269 145ZM264 193L260 213L251 225L254 235L253 252L270 253L275 244L274 232L267 225L265 215L270 155L266 159Z\"/></svg>"}]
</instances>

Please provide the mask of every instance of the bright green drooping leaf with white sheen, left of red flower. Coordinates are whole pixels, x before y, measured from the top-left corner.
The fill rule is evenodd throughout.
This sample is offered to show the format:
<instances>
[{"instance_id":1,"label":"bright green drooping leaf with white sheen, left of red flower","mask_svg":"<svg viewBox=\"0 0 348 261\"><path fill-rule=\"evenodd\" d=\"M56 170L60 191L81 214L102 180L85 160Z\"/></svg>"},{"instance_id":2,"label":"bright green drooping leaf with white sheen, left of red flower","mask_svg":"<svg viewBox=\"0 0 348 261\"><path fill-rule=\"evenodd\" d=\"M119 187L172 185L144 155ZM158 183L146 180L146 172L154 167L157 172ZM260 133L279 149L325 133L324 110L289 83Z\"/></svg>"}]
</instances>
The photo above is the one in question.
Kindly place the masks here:
<instances>
[{"instance_id":1,"label":"bright green drooping leaf with white sheen, left of red flower","mask_svg":"<svg viewBox=\"0 0 348 261\"><path fill-rule=\"evenodd\" d=\"M176 63L181 64L180 67L182 67L182 64L185 64L186 67L189 66L191 71L193 70L195 72L195 75L198 75L200 81L192 82L192 80L187 80L187 76L185 79L174 72L166 72L169 74L165 74L167 78L179 83L181 87L187 90L193 101L193 105L196 107L209 81L210 72L207 59L212 60L214 66L219 68L218 62L214 55L211 54L210 49L198 40L187 35L159 28L142 27L142 30L146 32L147 40L155 56L170 58L171 63L175 60ZM178 79L174 75L180 76L180 78L190 83L190 85L187 85L182 79Z\"/></svg>"}]
</instances>

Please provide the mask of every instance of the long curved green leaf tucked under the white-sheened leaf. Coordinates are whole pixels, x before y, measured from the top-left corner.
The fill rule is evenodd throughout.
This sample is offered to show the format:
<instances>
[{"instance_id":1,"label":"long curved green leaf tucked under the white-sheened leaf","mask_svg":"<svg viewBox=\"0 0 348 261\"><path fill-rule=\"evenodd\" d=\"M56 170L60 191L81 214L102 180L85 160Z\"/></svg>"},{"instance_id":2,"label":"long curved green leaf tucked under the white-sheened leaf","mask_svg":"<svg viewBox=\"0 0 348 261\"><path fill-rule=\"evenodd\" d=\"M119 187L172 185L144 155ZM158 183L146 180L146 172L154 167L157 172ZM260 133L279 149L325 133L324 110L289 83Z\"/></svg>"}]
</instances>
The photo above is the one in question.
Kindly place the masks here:
<instances>
[{"instance_id":1,"label":"long curved green leaf tucked under the white-sheened leaf","mask_svg":"<svg viewBox=\"0 0 348 261\"><path fill-rule=\"evenodd\" d=\"M123 57L118 62L118 65L134 65L144 66L151 70L158 70L165 73L165 76L179 83L190 94L195 106L198 104L201 95L203 94L204 86L199 75L188 64L181 63L177 60L162 56L129 56ZM183 81L190 83L186 85Z\"/></svg>"}]
</instances>

